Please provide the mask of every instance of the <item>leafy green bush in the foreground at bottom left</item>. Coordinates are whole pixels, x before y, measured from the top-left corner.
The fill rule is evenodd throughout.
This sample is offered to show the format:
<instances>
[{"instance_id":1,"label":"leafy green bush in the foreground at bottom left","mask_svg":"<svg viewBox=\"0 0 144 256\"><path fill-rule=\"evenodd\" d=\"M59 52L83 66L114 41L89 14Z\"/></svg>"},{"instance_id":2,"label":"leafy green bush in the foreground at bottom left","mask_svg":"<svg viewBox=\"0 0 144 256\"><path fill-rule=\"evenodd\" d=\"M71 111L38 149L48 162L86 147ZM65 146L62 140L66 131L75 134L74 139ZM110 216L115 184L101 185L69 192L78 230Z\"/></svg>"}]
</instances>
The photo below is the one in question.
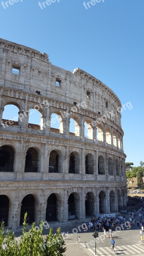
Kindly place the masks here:
<instances>
[{"instance_id":1,"label":"leafy green bush in the foreground at bottom left","mask_svg":"<svg viewBox=\"0 0 144 256\"><path fill-rule=\"evenodd\" d=\"M57 233L52 234L52 228L46 239L43 238L43 222L41 221L38 228L35 223L32 228L26 232L27 213L24 216L23 234L20 239L16 239L14 233L7 231L4 235L4 222L0 228L0 256L63 256L66 251L65 242L60 234L60 228Z\"/></svg>"}]
</instances>

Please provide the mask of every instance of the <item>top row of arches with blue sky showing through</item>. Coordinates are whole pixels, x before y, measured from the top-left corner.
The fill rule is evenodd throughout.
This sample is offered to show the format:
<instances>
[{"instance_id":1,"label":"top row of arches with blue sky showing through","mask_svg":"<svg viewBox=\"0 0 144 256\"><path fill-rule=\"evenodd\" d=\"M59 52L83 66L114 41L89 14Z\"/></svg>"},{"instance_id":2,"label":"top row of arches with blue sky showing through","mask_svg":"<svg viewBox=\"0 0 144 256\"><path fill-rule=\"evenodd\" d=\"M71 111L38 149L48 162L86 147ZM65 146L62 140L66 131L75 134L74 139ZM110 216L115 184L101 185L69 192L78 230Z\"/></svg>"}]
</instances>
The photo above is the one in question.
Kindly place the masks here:
<instances>
[{"instance_id":1,"label":"top row of arches with blue sky showing through","mask_svg":"<svg viewBox=\"0 0 144 256\"><path fill-rule=\"evenodd\" d=\"M67 114L66 111L52 111L52 113L49 113L51 116L50 120L47 120L49 118L43 115L40 109L31 108L25 113L24 111L20 111L19 108L20 106L16 103L14 103L14 105L12 105L12 102L7 103L2 114L3 123L22 126L24 120L27 119L25 120L27 127L63 134L65 133L64 124L65 121L67 121L69 127L66 129L69 130L69 135L98 140L114 145L120 149L123 148L121 134L109 125L103 124L102 120L102 122L96 122L95 120L87 118L80 120L78 114L74 113L70 115L69 113ZM11 117L8 116L9 112L11 113ZM9 119L14 119L14 122L6 122Z\"/></svg>"}]
</instances>

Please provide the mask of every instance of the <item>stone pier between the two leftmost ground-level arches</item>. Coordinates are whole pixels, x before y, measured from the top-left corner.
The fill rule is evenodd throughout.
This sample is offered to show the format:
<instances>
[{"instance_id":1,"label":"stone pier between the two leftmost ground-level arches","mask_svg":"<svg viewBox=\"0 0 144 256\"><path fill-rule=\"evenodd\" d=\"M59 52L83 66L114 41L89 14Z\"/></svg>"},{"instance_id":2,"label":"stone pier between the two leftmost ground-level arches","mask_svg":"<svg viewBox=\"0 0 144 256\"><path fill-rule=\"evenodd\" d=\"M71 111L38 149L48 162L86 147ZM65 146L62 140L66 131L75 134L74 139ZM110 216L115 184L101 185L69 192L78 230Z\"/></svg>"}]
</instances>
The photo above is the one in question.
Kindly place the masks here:
<instances>
[{"instance_id":1,"label":"stone pier between the two leftmost ground-level arches","mask_svg":"<svg viewBox=\"0 0 144 256\"><path fill-rule=\"evenodd\" d=\"M20 226L21 205L22 204L18 204L18 201L15 201L15 204L9 204L8 227L12 230L17 230Z\"/></svg>"}]
</instances>

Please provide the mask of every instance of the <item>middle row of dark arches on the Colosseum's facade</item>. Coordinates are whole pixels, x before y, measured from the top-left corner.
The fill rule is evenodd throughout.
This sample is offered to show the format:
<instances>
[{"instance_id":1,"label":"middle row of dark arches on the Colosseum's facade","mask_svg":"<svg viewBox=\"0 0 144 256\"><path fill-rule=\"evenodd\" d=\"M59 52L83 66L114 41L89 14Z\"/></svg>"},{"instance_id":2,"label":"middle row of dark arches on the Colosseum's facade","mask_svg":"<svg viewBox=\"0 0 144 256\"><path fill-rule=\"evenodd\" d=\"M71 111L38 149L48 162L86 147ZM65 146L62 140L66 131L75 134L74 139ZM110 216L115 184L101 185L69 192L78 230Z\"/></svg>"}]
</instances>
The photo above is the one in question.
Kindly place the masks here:
<instances>
[{"instance_id":1,"label":"middle row of dark arches on the Colosseum's facade","mask_svg":"<svg viewBox=\"0 0 144 256\"><path fill-rule=\"evenodd\" d=\"M1 172L13 172L14 171L14 157L15 152L12 146L3 145L0 147L0 171ZM80 173L80 154L76 151L72 151L68 156L68 170L69 174ZM36 148L28 148L26 151L25 168L24 172L40 172L40 152ZM106 174L106 160L102 155L98 156L98 174ZM117 176L124 175L122 160L109 157L107 160L108 174ZM85 155L85 174L95 174L95 157L93 154L88 153ZM63 154L60 150L52 150L49 154L49 167L47 166L47 172L49 173L63 173ZM83 170L84 173L84 170Z\"/></svg>"}]
</instances>

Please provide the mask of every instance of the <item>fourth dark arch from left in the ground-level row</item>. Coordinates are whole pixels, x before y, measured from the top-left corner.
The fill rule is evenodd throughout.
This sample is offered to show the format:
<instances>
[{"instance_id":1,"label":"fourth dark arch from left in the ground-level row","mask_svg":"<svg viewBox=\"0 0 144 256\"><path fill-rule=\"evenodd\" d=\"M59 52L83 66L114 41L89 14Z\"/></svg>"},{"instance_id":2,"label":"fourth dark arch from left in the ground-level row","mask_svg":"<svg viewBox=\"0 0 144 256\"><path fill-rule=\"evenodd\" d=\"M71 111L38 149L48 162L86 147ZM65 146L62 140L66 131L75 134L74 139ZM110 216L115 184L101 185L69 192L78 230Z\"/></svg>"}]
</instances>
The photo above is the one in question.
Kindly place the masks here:
<instances>
[{"instance_id":1,"label":"fourth dark arch from left in the ground-level row","mask_svg":"<svg viewBox=\"0 0 144 256\"><path fill-rule=\"evenodd\" d=\"M68 198L68 219L79 218L79 197L77 193L72 193Z\"/></svg>"}]
</instances>

